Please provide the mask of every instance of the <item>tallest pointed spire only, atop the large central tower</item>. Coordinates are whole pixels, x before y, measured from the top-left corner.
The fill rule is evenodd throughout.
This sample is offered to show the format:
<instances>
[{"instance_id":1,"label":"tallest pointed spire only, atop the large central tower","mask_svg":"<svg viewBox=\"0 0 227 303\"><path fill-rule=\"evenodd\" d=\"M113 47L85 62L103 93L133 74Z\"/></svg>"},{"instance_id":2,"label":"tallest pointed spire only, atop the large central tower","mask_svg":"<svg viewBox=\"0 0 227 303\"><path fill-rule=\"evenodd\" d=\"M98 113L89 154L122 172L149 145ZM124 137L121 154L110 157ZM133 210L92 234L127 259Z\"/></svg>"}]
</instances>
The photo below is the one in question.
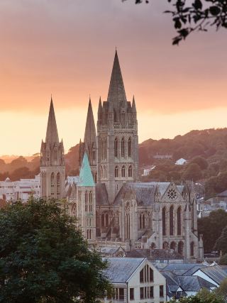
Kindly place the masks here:
<instances>
[{"instance_id":1,"label":"tallest pointed spire only, atop the large central tower","mask_svg":"<svg viewBox=\"0 0 227 303\"><path fill-rule=\"evenodd\" d=\"M109 93L108 93L107 101L109 102L127 101L117 51L115 52L114 65L111 74L111 82L109 84Z\"/></svg>"}]
</instances>

